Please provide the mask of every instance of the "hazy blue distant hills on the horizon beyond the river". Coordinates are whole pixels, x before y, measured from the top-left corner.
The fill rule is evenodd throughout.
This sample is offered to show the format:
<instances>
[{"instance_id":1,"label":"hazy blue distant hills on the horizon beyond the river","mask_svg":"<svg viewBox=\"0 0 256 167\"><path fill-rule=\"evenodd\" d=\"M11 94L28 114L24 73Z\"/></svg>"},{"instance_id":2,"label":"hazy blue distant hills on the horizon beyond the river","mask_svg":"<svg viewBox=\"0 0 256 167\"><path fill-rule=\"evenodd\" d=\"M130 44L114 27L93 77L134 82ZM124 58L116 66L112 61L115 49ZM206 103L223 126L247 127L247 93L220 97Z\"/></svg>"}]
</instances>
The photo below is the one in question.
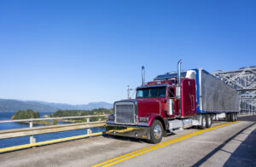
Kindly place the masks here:
<instances>
[{"instance_id":1,"label":"hazy blue distant hills on the horizon beyond the river","mask_svg":"<svg viewBox=\"0 0 256 167\"><path fill-rule=\"evenodd\" d=\"M91 102L84 105L70 105L66 103L50 103L44 101L19 101L10 99L0 99L0 112L17 112L18 110L32 109L37 112L55 112L61 110L92 110L95 108L113 107L107 102Z\"/></svg>"}]
</instances>

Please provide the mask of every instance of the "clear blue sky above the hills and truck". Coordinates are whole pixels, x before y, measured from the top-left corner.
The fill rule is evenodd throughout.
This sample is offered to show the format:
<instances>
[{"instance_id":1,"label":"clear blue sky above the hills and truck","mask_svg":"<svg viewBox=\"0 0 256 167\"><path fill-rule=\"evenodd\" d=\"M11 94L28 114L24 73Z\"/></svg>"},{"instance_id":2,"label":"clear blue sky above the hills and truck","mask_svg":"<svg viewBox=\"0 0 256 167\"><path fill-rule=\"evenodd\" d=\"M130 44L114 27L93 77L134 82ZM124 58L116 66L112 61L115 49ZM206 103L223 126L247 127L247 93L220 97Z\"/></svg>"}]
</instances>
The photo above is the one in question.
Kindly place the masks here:
<instances>
[{"instance_id":1,"label":"clear blue sky above the hills and truck","mask_svg":"<svg viewBox=\"0 0 256 167\"><path fill-rule=\"evenodd\" d=\"M256 2L0 1L0 98L113 102L156 75L256 65Z\"/></svg>"}]
</instances>

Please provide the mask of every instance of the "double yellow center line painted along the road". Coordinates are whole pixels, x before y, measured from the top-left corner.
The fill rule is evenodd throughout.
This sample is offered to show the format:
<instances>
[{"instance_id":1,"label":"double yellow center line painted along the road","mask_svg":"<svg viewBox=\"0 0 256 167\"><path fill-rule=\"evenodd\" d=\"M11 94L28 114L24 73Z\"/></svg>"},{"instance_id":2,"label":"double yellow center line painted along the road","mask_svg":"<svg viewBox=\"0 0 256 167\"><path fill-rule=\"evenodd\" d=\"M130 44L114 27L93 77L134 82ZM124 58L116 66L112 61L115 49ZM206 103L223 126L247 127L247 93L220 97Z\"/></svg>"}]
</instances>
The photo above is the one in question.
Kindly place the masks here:
<instances>
[{"instance_id":1,"label":"double yellow center line painted along the road","mask_svg":"<svg viewBox=\"0 0 256 167\"><path fill-rule=\"evenodd\" d=\"M136 156L141 155L143 153L148 153L150 151L153 151L154 149L157 149L157 148L160 148L160 147L165 147L165 146L173 144L177 141L183 141L185 139L188 139L189 137L192 137L194 135L199 135L199 134L207 132L209 130L216 130L218 128L224 127L224 126L229 125L229 124L234 124L234 123L237 123L237 122L239 122L239 121L232 122L232 123L227 123L227 124L220 124L220 125L214 126L212 128L206 129L206 130L198 130L198 131L192 132L188 135L183 135L183 136L177 137L177 138L172 139L170 141L164 141L162 143L155 144L154 146L151 146L151 147L145 147L143 149L140 149L140 150L137 150L137 151L134 151L134 152L131 152L131 153L126 153L125 155L121 155L117 158L111 158L111 159L109 159L107 161L104 161L100 164L93 165L92 167L98 167L98 166L107 167L107 166L111 166L113 164L118 164L119 162L122 162L122 161L125 161L127 159L136 157Z\"/></svg>"}]
</instances>

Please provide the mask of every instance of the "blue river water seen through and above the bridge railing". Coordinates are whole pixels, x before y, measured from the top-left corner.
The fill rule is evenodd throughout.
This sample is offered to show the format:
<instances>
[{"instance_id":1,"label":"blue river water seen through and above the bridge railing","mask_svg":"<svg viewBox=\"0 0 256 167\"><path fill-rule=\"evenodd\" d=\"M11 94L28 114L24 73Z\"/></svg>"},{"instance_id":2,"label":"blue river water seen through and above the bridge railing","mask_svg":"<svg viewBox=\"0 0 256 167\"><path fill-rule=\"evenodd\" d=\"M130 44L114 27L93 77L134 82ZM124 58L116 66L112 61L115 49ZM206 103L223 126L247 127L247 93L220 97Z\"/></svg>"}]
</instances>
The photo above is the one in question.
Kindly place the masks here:
<instances>
[{"instance_id":1,"label":"blue river water seen through and above the bridge railing","mask_svg":"<svg viewBox=\"0 0 256 167\"><path fill-rule=\"evenodd\" d=\"M49 114L49 113L40 112L40 116L43 116L44 114ZM0 112L0 120L9 120L13 115L14 115L14 112ZM61 124L65 124L65 123L61 123ZM42 125L34 125L34 126L42 126ZM28 128L28 127L29 127L29 124L24 124L24 123L0 124L0 130L12 130L12 129ZM105 131L105 128L93 128L91 130L92 130L92 133L96 133L96 132ZM75 135L86 135L86 134L87 134L87 130L84 129L84 130L62 131L62 132L43 134L43 135L34 135L34 137L36 138L36 141L39 142L39 141L49 141L49 140L60 139L64 137L71 137ZM0 148L19 146L22 144L29 144L29 136L0 140Z\"/></svg>"}]
</instances>

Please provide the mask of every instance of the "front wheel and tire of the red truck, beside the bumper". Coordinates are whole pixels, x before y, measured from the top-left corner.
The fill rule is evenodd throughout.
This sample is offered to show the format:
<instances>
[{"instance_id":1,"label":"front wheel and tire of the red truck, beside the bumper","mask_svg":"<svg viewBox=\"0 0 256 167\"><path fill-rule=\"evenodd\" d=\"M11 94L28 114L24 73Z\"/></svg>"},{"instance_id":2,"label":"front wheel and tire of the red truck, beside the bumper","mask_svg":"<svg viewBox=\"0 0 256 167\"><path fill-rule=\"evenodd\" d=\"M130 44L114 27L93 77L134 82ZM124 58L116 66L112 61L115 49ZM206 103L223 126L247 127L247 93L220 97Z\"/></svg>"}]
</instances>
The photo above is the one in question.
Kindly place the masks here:
<instances>
[{"instance_id":1,"label":"front wheel and tire of the red truck, beside the bumper","mask_svg":"<svg viewBox=\"0 0 256 167\"><path fill-rule=\"evenodd\" d=\"M155 119L153 124L150 126L150 142L153 144L159 143L162 141L164 134L163 125L160 120Z\"/></svg>"}]
</instances>

